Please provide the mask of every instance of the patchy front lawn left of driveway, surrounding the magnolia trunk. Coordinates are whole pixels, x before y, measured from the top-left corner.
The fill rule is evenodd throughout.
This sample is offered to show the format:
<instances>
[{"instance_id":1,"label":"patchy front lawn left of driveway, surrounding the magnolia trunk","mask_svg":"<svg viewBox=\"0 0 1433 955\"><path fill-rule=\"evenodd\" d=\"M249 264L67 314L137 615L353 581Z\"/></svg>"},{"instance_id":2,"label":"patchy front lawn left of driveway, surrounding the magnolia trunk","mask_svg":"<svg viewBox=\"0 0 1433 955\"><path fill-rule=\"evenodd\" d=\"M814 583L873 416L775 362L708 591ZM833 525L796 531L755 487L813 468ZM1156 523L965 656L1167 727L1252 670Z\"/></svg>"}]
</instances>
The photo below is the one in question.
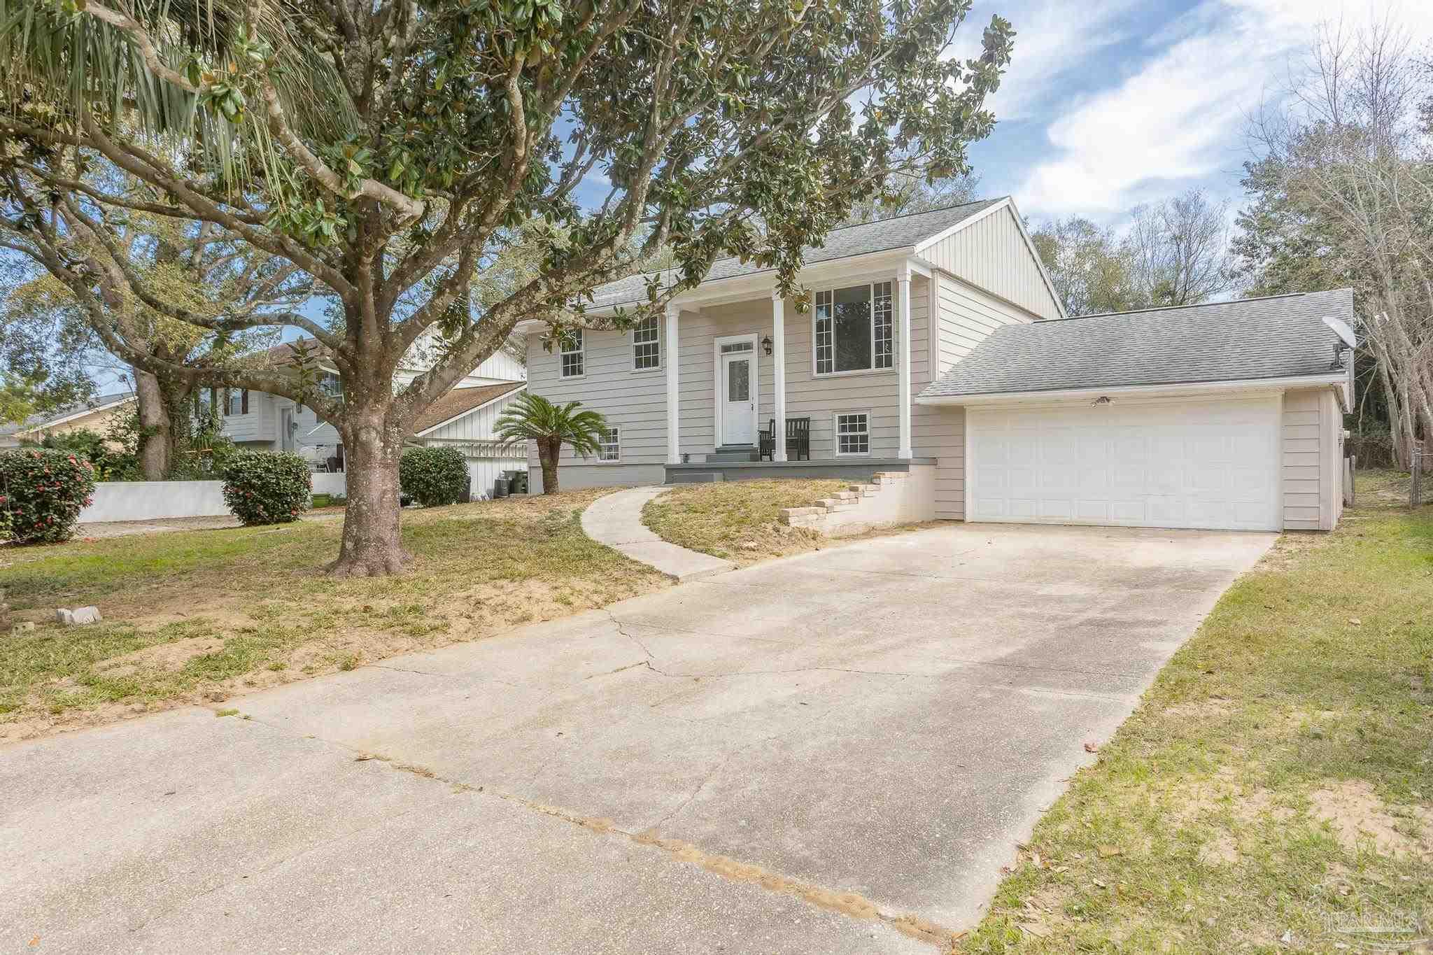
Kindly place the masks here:
<instances>
[{"instance_id":1,"label":"patchy front lawn left of driveway, surrounding the magnolia trunk","mask_svg":"<svg viewBox=\"0 0 1433 955\"><path fill-rule=\"evenodd\" d=\"M404 514L401 577L331 580L338 521L76 540L0 551L36 630L0 637L0 740L315 673L605 606L666 577L589 540L602 491ZM54 607L105 623L62 629Z\"/></svg>"}]
</instances>

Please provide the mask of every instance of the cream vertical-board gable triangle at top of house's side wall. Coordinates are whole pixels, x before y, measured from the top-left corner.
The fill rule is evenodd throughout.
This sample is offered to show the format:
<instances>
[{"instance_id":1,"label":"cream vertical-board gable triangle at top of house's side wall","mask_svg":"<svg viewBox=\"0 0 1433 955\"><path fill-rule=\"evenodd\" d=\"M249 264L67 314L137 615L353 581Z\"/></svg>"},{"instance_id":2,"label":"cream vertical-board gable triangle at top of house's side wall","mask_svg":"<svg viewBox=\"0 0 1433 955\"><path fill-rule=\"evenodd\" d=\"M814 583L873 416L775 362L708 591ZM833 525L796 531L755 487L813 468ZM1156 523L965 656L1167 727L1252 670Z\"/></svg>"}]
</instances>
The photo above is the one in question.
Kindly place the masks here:
<instances>
[{"instance_id":1,"label":"cream vertical-board gable triangle at top of house's side wall","mask_svg":"<svg viewBox=\"0 0 1433 955\"><path fill-rule=\"evenodd\" d=\"M926 246L920 255L1037 318L1060 318L1059 302L1009 205Z\"/></svg>"}]
</instances>

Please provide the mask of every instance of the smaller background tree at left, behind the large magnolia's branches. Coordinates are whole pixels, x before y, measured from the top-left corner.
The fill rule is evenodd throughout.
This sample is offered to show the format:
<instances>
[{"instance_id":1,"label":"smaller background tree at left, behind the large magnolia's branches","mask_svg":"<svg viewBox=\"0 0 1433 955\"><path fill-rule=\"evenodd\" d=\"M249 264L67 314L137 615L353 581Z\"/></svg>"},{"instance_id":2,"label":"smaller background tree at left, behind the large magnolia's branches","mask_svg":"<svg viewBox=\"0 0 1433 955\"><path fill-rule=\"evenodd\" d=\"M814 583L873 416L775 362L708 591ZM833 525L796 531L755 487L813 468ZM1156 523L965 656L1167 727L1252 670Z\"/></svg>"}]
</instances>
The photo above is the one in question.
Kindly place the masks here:
<instances>
[{"instance_id":1,"label":"smaller background tree at left, behind the large magnolia's branches","mask_svg":"<svg viewBox=\"0 0 1433 955\"><path fill-rule=\"evenodd\" d=\"M63 382L64 372L77 365L106 364L105 342L120 342L123 349L109 351L133 365L125 372L135 382L139 470L145 480L162 481L178 462L178 445L189 437L201 375L239 362L258 345L271 344L267 338L277 338L275 329L219 332L173 314L232 321L262 312L265 321L278 322L284 309L310 299L314 282L292 262L236 241L214 223L193 223L172 210L155 213L148 208L155 190L107 160L77 163L72 153L56 157L52 169L64 163L76 166L67 193L46 189L43 175L26 163L0 168L0 249L32 266L0 295L0 321L29 349L3 358L29 369L26 362L39 352L39 367ZM116 205L92 202L90 193L99 192ZM158 305L133 294L122 272L102 278L97 294L77 295L72 272L86 258L96 265L122 263ZM132 354L146 361L133 361Z\"/></svg>"}]
</instances>

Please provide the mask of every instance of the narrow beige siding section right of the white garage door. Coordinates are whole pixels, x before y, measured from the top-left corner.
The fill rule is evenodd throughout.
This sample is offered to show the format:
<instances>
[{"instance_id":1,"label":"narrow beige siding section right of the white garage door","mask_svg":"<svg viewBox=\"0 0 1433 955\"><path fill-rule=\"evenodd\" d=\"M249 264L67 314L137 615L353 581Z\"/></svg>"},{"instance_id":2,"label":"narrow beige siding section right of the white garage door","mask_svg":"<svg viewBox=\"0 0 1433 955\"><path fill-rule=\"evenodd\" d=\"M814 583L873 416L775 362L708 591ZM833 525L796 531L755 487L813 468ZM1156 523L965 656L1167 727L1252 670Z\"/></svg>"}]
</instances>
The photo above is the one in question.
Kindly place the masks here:
<instances>
[{"instance_id":1,"label":"narrow beige siding section right of the white garage door","mask_svg":"<svg viewBox=\"0 0 1433 955\"><path fill-rule=\"evenodd\" d=\"M1284 392L1284 530L1331 531L1343 513L1343 415L1330 388Z\"/></svg>"}]
</instances>

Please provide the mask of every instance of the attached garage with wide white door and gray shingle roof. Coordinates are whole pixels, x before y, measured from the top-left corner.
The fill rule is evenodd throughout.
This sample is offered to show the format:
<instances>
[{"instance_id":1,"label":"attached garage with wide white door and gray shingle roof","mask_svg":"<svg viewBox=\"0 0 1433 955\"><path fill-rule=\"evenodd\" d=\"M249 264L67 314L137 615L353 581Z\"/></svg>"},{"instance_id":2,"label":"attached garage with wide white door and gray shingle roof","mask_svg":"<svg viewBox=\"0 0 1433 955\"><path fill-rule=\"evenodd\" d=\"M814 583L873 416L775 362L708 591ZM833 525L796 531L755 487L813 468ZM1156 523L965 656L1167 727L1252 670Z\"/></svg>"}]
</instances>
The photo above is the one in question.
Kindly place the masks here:
<instances>
[{"instance_id":1,"label":"attached garage with wide white door and gray shingle roof","mask_svg":"<svg viewBox=\"0 0 1433 955\"><path fill-rule=\"evenodd\" d=\"M1006 325L917 402L963 414L969 521L1331 530L1351 322L1337 289Z\"/></svg>"}]
</instances>

